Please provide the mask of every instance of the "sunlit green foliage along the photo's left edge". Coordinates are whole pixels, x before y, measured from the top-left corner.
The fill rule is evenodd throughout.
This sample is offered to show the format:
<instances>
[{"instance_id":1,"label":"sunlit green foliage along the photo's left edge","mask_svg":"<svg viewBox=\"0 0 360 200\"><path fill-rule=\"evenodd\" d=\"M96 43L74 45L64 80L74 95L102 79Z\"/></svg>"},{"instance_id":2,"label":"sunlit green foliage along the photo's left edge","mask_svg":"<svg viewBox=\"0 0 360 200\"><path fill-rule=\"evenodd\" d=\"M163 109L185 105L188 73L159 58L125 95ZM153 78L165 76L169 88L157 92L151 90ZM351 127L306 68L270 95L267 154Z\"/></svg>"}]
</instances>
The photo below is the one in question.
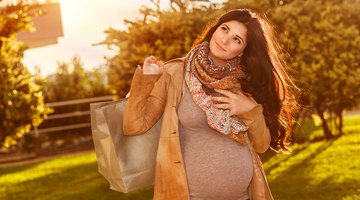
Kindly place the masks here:
<instances>
[{"instance_id":1,"label":"sunlit green foliage along the photo's left edge","mask_svg":"<svg viewBox=\"0 0 360 200\"><path fill-rule=\"evenodd\" d=\"M0 148L16 144L48 112L41 87L22 63L25 46L15 39L35 8L20 1L0 10Z\"/></svg>"}]
</instances>

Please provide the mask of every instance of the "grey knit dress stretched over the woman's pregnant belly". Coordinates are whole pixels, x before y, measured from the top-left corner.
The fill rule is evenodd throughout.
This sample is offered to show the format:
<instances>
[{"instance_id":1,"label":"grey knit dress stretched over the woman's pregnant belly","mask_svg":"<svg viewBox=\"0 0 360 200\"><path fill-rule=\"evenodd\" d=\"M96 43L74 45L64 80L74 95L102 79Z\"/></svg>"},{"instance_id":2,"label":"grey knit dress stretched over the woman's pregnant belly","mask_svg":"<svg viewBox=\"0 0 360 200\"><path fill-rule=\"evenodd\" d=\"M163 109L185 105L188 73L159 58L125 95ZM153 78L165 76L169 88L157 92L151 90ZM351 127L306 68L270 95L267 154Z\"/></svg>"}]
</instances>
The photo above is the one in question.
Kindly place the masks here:
<instances>
[{"instance_id":1,"label":"grey knit dress stretched over the woman's pregnant belly","mask_svg":"<svg viewBox=\"0 0 360 200\"><path fill-rule=\"evenodd\" d=\"M190 199L249 199L253 168L248 147L211 129L187 86L177 112Z\"/></svg>"}]
</instances>

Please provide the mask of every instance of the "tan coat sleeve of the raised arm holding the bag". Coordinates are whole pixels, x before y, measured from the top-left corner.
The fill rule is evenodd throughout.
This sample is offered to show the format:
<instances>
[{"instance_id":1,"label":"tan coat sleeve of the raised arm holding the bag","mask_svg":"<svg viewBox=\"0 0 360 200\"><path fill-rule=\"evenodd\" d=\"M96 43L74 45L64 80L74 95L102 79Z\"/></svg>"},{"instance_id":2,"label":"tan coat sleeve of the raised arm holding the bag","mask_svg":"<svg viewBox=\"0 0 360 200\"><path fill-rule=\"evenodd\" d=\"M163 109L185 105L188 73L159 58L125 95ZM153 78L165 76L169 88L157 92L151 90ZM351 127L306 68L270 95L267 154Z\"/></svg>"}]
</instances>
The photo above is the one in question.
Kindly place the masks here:
<instances>
[{"instance_id":1,"label":"tan coat sleeve of the raised arm holding the bag","mask_svg":"<svg viewBox=\"0 0 360 200\"><path fill-rule=\"evenodd\" d=\"M136 69L124 111L125 135L143 134L160 119L166 103L166 76L165 71L161 75L144 75L140 68Z\"/></svg>"}]
</instances>

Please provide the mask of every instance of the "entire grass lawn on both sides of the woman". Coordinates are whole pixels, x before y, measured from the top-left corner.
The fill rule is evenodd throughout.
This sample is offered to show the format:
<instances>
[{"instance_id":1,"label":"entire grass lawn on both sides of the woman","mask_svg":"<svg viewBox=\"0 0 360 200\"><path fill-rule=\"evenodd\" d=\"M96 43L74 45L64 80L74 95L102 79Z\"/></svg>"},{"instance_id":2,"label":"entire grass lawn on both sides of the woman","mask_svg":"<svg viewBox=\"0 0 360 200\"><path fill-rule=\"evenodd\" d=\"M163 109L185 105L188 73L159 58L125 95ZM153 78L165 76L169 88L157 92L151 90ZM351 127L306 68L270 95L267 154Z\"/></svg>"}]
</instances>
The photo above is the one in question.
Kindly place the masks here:
<instances>
[{"instance_id":1,"label":"entire grass lawn on both sides of the woman","mask_svg":"<svg viewBox=\"0 0 360 200\"><path fill-rule=\"evenodd\" d=\"M337 139L294 145L290 155L262 155L274 198L360 200L359 120L346 117L347 134ZM152 187L129 194L110 190L93 152L0 168L4 200L145 200L152 193Z\"/></svg>"}]
</instances>

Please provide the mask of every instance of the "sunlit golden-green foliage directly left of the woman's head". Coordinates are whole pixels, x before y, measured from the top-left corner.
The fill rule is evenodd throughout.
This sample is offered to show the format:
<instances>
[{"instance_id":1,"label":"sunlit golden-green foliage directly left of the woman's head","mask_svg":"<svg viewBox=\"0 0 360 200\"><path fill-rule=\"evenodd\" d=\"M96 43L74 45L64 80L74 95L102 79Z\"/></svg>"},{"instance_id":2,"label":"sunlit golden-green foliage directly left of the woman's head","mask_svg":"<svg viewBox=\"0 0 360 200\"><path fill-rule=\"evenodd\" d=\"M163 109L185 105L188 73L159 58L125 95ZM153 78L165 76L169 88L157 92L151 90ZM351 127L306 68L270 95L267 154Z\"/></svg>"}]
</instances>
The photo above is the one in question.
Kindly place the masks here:
<instances>
[{"instance_id":1,"label":"sunlit golden-green foliage directly left of the woman's head","mask_svg":"<svg viewBox=\"0 0 360 200\"><path fill-rule=\"evenodd\" d=\"M118 51L118 55L108 59L109 80L117 95L126 95L135 68L142 65L145 57L154 55L167 61L185 56L195 38L217 16L217 12L210 5L192 7L187 12L155 12L154 16L145 17L145 21L127 21L128 30L108 29L102 44Z\"/></svg>"}]
</instances>

